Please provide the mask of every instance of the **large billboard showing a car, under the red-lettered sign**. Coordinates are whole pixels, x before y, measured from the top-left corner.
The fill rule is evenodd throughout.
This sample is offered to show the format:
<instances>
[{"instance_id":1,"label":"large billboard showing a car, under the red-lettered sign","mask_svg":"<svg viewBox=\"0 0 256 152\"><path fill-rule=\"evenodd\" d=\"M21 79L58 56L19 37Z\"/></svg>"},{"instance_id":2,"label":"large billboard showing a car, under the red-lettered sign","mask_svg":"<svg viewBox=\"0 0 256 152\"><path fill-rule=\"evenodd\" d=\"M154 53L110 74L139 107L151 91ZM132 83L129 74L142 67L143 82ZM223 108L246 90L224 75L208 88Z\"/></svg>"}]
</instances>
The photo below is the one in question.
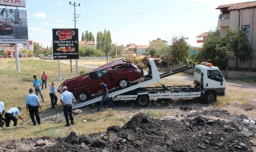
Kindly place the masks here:
<instances>
[{"instance_id":1,"label":"large billboard showing a car, under the red-lettered sign","mask_svg":"<svg viewBox=\"0 0 256 152\"><path fill-rule=\"evenodd\" d=\"M0 43L28 43L25 10L0 8Z\"/></svg>"}]
</instances>

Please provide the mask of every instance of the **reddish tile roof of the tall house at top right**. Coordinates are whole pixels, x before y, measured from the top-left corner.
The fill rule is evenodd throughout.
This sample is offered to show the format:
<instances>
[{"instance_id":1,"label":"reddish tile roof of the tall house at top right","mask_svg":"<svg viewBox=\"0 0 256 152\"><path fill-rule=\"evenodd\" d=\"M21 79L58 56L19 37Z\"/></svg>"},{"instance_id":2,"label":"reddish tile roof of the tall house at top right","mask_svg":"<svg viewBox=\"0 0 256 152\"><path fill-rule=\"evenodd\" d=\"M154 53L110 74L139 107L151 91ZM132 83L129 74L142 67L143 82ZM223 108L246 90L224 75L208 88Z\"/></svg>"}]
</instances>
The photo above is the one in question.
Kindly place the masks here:
<instances>
[{"instance_id":1,"label":"reddish tile roof of the tall house at top right","mask_svg":"<svg viewBox=\"0 0 256 152\"><path fill-rule=\"evenodd\" d=\"M243 3L219 5L216 9L228 8L228 10L236 10L236 9L250 9L255 7L256 7L256 1L247 1Z\"/></svg>"}]
</instances>

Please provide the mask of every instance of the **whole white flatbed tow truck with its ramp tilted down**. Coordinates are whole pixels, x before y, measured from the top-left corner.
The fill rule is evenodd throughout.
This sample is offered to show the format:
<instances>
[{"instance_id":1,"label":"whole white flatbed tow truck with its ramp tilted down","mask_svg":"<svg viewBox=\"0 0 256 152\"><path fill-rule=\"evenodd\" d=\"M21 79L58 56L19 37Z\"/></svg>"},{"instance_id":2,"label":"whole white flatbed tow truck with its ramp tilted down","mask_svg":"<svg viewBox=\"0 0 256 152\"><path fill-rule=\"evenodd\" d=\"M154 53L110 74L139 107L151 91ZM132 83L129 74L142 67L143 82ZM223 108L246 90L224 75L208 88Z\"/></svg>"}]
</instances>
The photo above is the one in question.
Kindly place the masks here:
<instances>
[{"instance_id":1,"label":"whole white flatbed tow truck with its ramp tilted down","mask_svg":"<svg viewBox=\"0 0 256 152\"><path fill-rule=\"evenodd\" d=\"M190 66L181 67L163 74L159 74L153 59L148 59L152 75L147 75L139 80L131 82L127 88L113 88L109 90L112 101L136 101L138 106L146 107L154 99L173 98L199 98L207 104L216 101L217 96L226 96L226 80L218 67L207 62L197 64L194 69L194 87L191 85L165 86L160 80L178 72L191 69ZM146 85L158 82L162 87L146 87ZM86 102L74 103L73 109L79 109L102 100L102 93L91 96Z\"/></svg>"}]
</instances>

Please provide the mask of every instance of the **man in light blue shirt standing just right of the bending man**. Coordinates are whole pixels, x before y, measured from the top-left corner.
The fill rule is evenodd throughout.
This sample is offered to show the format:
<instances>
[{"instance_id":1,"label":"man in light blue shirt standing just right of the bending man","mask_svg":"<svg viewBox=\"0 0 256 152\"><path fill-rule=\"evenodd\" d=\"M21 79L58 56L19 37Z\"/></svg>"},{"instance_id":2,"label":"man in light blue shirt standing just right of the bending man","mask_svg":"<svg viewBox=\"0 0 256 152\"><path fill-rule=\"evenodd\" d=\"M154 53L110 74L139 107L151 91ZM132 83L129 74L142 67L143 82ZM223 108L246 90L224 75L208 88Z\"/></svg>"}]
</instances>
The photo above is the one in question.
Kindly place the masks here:
<instances>
[{"instance_id":1,"label":"man in light blue shirt standing just right of the bending man","mask_svg":"<svg viewBox=\"0 0 256 152\"><path fill-rule=\"evenodd\" d=\"M38 113L38 108L40 108L40 109L42 109L42 108L41 108L41 105L40 105L39 98L38 98L38 96L36 96L33 93L33 88L30 88L28 90L28 92L30 94L27 96L27 98L25 100L26 109L27 109L27 111L29 109L29 114L30 114L30 118L33 122L33 125L36 126L36 122L38 123L38 125L40 125L41 121L40 121L40 116L39 116L39 113ZM36 121L35 121L34 115L36 116Z\"/></svg>"}]
</instances>

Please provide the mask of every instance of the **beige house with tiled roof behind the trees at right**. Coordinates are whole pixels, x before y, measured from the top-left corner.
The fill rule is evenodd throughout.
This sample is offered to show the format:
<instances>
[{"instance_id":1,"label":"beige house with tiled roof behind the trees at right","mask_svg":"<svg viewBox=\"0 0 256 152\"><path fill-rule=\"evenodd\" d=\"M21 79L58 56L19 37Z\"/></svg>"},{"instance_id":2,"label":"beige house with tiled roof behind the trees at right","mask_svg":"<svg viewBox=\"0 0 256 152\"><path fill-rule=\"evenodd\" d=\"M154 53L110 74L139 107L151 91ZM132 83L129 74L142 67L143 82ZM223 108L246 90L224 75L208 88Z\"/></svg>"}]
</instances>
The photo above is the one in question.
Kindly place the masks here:
<instances>
[{"instance_id":1,"label":"beige house with tiled roof behind the trees at right","mask_svg":"<svg viewBox=\"0 0 256 152\"><path fill-rule=\"evenodd\" d=\"M221 37L226 35L228 28L240 28L245 31L252 48L256 50L256 1L220 5L216 9L220 9L218 27ZM228 61L228 69L236 69L235 60ZM239 62L238 70L256 72L256 60L244 64Z\"/></svg>"}]
</instances>

